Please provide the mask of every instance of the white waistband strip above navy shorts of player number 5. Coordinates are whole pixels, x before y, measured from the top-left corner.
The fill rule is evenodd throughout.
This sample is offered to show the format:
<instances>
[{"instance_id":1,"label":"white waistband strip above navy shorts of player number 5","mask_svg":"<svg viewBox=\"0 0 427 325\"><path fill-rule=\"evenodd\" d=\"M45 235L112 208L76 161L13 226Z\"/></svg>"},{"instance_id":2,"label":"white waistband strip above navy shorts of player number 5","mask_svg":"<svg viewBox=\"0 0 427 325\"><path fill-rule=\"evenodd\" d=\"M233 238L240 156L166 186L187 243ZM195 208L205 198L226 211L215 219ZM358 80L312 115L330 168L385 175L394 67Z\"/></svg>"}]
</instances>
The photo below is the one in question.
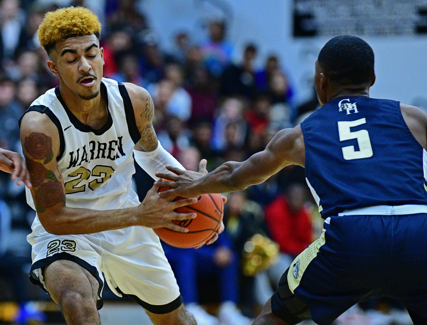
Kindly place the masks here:
<instances>
[{"instance_id":1,"label":"white waistband strip above navy shorts of player number 5","mask_svg":"<svg viewBox=\"0 0 427 325\"><path fill-rule=\"evenodd\" d=\"M404 204L403 206L368 206L366 208L347 210L338 213L338 215L407 215L416 213L427 213L427 206L418 204Z\"/></svg>"}]
</instances>

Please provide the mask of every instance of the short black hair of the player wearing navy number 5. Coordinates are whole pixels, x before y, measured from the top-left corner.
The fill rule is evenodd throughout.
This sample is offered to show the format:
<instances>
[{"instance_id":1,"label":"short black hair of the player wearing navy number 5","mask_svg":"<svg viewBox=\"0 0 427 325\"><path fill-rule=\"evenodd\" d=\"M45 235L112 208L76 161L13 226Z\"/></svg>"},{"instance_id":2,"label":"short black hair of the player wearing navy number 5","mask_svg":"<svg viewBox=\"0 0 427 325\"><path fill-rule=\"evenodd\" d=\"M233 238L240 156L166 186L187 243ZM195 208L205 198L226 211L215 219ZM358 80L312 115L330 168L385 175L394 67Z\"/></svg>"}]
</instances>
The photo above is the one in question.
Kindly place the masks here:
<instances>
[{"instance_id":1,"label":"short black hair of the player wearing navy number 5","mask_svg":"<svg viewBox=\"0 0 427 325\"><path fill-rule=\"evenodd\" d=\"M337 85L364 85L374 80L374 51L356 36L332 38L320 50L317 63Z\"/></svg>"}]
</instances>

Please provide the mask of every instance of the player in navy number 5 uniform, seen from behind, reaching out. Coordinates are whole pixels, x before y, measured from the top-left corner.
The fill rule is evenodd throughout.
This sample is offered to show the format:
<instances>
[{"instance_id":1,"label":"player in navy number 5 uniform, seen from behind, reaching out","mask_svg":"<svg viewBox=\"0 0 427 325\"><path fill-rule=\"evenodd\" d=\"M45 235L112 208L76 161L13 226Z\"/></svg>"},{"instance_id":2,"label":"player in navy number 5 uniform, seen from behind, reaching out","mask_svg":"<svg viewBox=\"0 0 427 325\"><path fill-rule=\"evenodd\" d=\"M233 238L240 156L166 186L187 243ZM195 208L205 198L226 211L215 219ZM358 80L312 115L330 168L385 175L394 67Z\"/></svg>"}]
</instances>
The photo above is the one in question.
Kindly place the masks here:
<instances>
[{"instance_id":1,"label":"player in navy number 5 uniform, seen from behind, reaching out","mask_svg":"<svg viewBox=\"0 0 427 325\"><path fill-rule=\"evenodd\" d=\"M427 324L427 114L369 97L374 53L354 36L320 50L315 88L322 107L263 151L201 174L167 167L162 196L239 191L289 164L305 166L325 219L322 235L295 258L253 324L317 324L369 297L402 302Z\"/></svg>"}]
</instances>

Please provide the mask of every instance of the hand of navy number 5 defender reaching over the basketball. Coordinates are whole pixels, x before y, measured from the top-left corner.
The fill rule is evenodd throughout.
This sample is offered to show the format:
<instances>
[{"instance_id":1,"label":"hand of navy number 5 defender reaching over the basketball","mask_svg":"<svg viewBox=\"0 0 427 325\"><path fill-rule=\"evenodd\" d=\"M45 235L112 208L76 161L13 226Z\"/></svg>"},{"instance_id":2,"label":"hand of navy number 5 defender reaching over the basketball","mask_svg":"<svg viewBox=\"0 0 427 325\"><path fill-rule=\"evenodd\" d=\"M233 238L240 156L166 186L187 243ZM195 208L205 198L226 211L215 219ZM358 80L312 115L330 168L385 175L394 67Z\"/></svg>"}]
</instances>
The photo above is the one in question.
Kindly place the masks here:
<instances>
[{"instance_id":1,"label":"hand of navy number 5 defender reaching over the basketball","mask_svg":"<svg viewBox=\"0 0 427 325\"><path fill-rule=\"evenodd\" d=\"M154 182L157 187L169 188L167 191L162 191L159 196L182 196L184 198L195 198L201 193L194 188L197 181L204 175L208 174L206 169L206 159L201 159L199 163L199 172L197 171L186 171L172 166L166 166L168 171L172 173L160 173L157 172L156 176L160 178L159 181ZM164 181L167 179L169 181Z\"/></svg>"}]
</instances>

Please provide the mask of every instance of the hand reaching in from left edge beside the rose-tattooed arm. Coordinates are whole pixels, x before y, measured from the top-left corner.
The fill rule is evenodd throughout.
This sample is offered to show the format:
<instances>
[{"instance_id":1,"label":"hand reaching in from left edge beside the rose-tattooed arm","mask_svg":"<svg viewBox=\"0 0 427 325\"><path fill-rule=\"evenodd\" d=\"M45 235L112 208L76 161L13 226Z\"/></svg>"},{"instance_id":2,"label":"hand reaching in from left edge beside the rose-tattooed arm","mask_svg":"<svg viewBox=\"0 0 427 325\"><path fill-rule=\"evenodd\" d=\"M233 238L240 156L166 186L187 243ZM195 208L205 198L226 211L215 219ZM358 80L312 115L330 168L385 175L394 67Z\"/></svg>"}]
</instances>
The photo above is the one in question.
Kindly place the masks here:
<instances>
[{"instance_id":1,"label":"hand reaching in from left edge beside the rose-tattooed arm","mask_svg":"<svg viewBox=\"0 0 427 325\"><path fill-rule=\"evenodd\" d=\"M25 166L25 161L17 152L0 148L0 171L12 174L12 181L20 186L24 183L31 187L30 174Z\"/></svg>"}]
</instances>

